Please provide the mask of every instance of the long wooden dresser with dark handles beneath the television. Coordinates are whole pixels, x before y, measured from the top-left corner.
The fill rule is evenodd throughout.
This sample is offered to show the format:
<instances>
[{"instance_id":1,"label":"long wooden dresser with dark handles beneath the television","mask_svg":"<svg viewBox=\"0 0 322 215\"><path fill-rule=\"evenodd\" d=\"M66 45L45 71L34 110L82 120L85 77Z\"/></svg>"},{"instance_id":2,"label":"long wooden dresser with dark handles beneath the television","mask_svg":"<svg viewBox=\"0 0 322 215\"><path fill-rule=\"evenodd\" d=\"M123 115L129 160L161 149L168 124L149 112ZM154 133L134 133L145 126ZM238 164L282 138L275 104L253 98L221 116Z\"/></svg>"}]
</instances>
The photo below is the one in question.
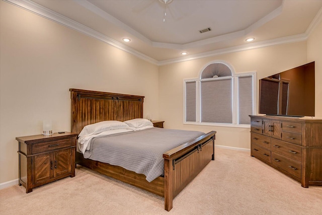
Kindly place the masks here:
<instances>
[{"instance_id":1,"label":"long wooden dresser with dark handles beneath the television","mask_svg":"<svg viewBox=\"0 0 322 215\"><path fill-rule=\"evenodd\" d=\"M297 180L322 185L322 120L251 117L251 156Z\"/></svg>"}]
</instances>

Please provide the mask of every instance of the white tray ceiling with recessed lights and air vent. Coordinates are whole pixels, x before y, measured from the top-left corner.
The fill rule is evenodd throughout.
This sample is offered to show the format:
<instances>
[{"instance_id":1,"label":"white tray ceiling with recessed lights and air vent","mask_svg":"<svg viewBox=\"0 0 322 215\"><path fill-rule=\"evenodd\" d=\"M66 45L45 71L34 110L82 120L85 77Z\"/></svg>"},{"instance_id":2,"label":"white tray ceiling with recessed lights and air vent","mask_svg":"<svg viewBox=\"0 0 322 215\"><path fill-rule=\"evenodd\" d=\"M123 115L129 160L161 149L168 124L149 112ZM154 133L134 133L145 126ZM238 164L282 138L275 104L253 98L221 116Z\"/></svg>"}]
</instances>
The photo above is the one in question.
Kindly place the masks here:
<instances>
[{"instance_id":1,"label":"white tray ceiling with recessed lights and air vent","mask_svg":"<svg viewBox=\"0 0 322 215\"><path fill-rule=\"evenodd\" d=\"M156 64L305 40L313 24L322 20L321 0L173 0L166 5L158 0L32 2ZM211 31L199 32L206 28ZM249 43L249 37L255 40ZM131 41L125 43L123 38Z\"/></svg>"}]
</instances>

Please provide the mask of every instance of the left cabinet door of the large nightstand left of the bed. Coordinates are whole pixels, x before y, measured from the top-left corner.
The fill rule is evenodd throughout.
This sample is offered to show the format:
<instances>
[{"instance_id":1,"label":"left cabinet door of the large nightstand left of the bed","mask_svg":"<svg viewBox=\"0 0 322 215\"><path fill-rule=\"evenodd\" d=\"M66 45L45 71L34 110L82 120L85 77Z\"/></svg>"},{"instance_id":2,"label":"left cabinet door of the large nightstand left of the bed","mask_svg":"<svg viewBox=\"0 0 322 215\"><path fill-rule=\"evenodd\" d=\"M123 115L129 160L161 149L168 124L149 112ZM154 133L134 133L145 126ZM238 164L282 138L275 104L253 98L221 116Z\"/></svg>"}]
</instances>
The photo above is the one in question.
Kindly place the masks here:
<instances>
[{"instance_id":1,"label":"left cabinet door of the large nightstand left of the bed","mask_svg":"<svg viewBox=\"0 0 322 215\"><path fill-rule=\"evenodd\" d=\"M52 154L46 153L42 155L36 155L32 159L33 169L33 184L39 184L46 182L53 177L52 172Z\"/></svg>"}]
</instances>

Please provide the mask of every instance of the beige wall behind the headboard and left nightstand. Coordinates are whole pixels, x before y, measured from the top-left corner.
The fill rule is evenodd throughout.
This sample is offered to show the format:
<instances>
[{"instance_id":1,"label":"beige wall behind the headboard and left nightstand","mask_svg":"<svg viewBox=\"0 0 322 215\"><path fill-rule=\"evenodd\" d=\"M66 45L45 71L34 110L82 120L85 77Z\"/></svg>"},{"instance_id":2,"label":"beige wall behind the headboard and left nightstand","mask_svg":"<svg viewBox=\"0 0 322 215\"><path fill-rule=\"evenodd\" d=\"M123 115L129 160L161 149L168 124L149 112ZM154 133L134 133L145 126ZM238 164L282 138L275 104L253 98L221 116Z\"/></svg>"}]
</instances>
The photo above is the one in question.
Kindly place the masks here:
<instances>
[{"instance_id":1,"label":"beige wall behind the headboard and left nightstand","mask_svg":"<svg viewBox=\"0 0 322 215\"><path fill-rule=\"evenodd\" d=\"M143 95L158 118L158 67L0 1L0 183L18 178L16 136L70 131L69 88Z\"/></svg>"}]
</instances>

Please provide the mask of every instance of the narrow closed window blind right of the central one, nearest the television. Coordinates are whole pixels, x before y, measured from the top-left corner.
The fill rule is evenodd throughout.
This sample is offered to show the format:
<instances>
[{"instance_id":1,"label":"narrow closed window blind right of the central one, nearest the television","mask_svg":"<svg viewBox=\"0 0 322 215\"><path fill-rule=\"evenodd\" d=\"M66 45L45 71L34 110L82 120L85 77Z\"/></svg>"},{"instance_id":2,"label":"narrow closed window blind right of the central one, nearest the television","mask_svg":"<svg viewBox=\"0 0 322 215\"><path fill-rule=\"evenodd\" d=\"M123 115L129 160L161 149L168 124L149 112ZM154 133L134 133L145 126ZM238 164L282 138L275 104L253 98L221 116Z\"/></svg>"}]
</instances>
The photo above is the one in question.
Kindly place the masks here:
<instances>
[{"instance_id":1,"label":"narrow closed window blind right of the central one, nearest the television","mask_svg":"<svg viewBox=\"0 0 322 215\"><path fill-rule=\"evenodd\" d=\"M238 77L238 124L251 124L253 114L253 77Z\"/></svg>"}]
</instances>

